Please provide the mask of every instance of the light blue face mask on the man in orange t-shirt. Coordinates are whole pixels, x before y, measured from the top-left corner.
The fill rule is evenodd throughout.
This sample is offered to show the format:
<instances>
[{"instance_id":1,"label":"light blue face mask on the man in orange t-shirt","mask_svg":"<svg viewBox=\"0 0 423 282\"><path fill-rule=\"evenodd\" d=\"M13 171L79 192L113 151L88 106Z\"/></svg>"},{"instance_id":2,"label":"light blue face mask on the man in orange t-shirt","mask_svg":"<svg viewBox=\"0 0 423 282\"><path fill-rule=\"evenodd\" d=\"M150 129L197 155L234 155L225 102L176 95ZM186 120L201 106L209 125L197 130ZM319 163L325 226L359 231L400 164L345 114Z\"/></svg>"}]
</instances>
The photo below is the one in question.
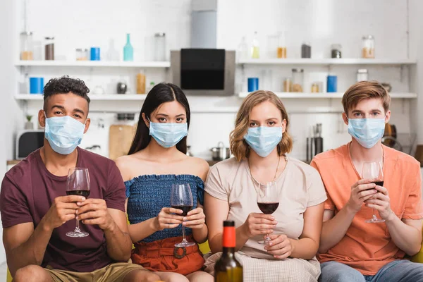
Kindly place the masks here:
<instances>
[{"instance_id":1,"label":"light blue face mask on the man in orange t-shirt","mask_svg":"<svg viewBox=\"0 0 423 282\"><path fill-rule=\"evenodd\" d=\"M376 145L385 132L385 118L348 118L348 133L370 149Z\"/></svg>"}]
</instances>

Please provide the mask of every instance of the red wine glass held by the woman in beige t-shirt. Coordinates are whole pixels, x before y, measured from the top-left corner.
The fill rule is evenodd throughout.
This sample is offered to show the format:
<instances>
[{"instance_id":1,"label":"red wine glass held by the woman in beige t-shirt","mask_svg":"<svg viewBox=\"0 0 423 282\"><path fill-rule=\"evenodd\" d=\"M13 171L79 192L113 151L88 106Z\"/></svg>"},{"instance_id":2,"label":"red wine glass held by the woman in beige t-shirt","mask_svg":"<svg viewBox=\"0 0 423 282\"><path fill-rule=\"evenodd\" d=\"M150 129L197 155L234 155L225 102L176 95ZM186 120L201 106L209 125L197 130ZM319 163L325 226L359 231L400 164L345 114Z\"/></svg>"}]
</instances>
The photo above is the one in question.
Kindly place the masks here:
<instances>
[{"instance_id":1,"label":"red wine glass held by the woman in beige t-shirt","mask_svg":"<svg viewBox=\"0 0 423 282\"><path fill-rule=\"evenodd\" d=\"M263 214L273 214L279 207L279 193L276 182L271 181L266 185L259 185L257 191L257 205ZM259 244L269 245L269 234L266 235L266 240L259 241Z\"/></svg>"}]
</instances>

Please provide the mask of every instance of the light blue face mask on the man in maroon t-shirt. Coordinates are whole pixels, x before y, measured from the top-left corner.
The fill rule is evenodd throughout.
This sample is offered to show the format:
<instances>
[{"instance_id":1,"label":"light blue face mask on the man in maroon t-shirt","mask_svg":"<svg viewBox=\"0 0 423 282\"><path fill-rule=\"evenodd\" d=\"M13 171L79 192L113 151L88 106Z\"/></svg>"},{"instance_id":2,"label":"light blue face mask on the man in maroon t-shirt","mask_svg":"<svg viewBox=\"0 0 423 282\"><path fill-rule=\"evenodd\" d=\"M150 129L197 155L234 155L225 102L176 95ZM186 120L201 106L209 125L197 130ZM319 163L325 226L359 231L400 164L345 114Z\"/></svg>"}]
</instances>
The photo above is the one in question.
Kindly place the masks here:
<instances>
[{"instance_id":1,"label":"light blue face mask on the man in maroon t-shirt","mask_svg":"<svg viewBox=\"0 0 423 282\"><path fill-rule=\"evenodd\" d=\"M58 154L71 154L80 145L85 124L71 116L46 118L44 135L51 149Z\"/></svg>"}]
</instances>

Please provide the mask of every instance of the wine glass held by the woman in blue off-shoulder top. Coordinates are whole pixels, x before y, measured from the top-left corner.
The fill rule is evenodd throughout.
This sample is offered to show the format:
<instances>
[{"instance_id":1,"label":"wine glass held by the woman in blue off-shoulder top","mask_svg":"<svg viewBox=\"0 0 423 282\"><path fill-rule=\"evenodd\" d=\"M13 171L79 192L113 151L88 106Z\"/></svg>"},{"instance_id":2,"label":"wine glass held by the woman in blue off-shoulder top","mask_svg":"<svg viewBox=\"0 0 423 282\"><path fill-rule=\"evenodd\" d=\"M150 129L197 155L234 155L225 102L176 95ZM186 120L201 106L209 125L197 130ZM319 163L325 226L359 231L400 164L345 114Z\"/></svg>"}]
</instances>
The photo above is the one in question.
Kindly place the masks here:
<instances>
[{"instance_id":1,"label":"wine glass held by the woman in blue off-shoulder top","mask_svg":"<svg viewBox=\"0 0 423 282\"><path fill-rule=\"evenodd\" d=\"M182 210L180 216L187 216L188 212L192 209L192 193L190 185L187 184L173 184L171 190L171 207L173 209ZM175 247L190 247L195 243L188 242L185 238L185 226L182 225L182 242L175 244Z\"/></svg>"}]
</instances>

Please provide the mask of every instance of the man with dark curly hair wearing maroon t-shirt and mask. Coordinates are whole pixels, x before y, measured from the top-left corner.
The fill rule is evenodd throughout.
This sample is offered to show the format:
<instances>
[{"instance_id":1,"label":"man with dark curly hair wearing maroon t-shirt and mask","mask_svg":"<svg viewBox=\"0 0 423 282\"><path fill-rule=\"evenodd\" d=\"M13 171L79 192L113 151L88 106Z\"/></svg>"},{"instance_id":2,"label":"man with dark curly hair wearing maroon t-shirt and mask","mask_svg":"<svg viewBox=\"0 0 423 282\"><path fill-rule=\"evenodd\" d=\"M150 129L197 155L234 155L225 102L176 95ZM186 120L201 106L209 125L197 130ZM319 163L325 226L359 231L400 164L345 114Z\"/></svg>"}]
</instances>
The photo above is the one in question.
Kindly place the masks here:
<instances>
[{"instance_id":1,"label":"man with dark curly hair wearing maroon t-shirt and mask","mask_svg":"<svg viewBox=\"0 0 423 282\"><path fill-rule=\"evenodd\" d=\"M159 280L142 266L128 264L132 241L116 164L78 147L90 127L88 92L82 80L51 79L38 114L44 146L4 176L0 212L14 281ZM74 167L88 168L88 199L66 195L68 171ZM82 224L69 237L75 219Z\"/></svg>"}]
</instances>

